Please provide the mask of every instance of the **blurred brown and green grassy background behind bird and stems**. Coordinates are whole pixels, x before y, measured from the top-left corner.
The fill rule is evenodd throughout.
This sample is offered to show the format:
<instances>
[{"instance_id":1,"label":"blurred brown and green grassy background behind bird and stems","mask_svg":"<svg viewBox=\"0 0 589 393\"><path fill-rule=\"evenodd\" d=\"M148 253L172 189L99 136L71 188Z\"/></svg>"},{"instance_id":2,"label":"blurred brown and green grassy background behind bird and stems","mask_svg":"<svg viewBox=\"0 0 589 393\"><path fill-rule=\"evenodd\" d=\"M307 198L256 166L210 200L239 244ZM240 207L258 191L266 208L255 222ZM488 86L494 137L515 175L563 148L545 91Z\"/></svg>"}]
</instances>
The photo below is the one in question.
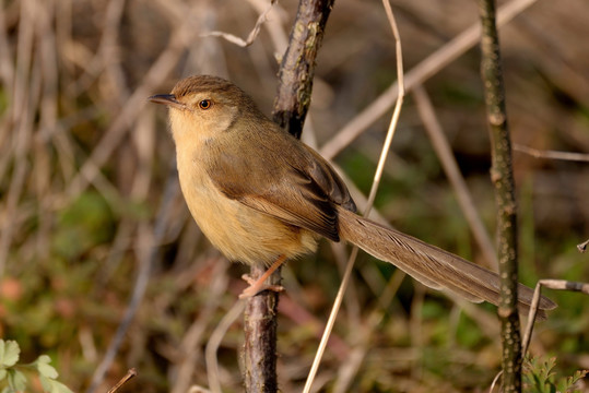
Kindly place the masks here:
<instances>
[{"instance_id":1,"label":"blurred brown and green grassy background behind bird and stems","mask_svg":"<svg viewBox=\"0 0 589 393\"><path fill-rule=\"evenodd\" d=\"M499 1L499 5L511 3ZM271 112L297 1L275 4L251 46L267 0L4 0L0 13L0 337L23 361L48 354L60 381L84 391L129 302L141 299L97 391L128 368L123 388L186 392L207 386L204 348L245 287L200 234L179 193L166 110L146 102L180 78L231 79ZM479 23L471 0L393 0L405 72ZM519 214L520 279L589 281L589 163L521 152L589 154L589 2L539 0L500 31ZM423 78L435 116L493 243L478 46ZM338 0L317 60L304 140L321 148L397 79L380 1ZM424 128L411 92L376 200L381 219L490 265ZM330 158L363 206L392 109ZM323 151L325 153L325 151ZM587 158L587 155L585 155ZM301 391L340 283L343 247L283 271L279 381ZM487 250L488 252L488 250ZM138 279L139 277L139 279ZM149 277L149 282L146 278ZM316 386L325 392L484 392L499 369L495 308L468 305L402 279L361 254ZM144 296L142 289L145 288ZM545 291L559 307L540 323L535 356L557 372L589 369L589 302ZM219 350L226 392L239 392L238 319ZM103 366L104 367L104 366ZM34 386L33 386L34 388Z\"/></svg>"}]
</instances>

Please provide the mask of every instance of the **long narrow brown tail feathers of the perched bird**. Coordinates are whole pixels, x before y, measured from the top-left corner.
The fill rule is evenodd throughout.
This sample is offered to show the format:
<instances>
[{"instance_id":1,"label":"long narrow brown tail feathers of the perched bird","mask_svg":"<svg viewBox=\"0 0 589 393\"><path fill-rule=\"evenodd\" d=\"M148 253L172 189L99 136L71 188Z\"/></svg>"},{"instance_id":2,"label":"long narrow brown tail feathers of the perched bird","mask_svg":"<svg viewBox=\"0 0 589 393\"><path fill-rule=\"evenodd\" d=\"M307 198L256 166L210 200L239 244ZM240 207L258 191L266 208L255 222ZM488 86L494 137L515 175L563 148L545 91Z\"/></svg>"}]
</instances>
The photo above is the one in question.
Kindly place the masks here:
<instances>
[{"instance_id":1,"label":"long narrow brown tail feathers of the perched bird","mask_svg":"<svg viewBox=\"0 0 589 393\"><path fill-rule=\"evenodd\" d=\"M446 289L474 302L486 300L497 305L499 277L460 257L431 246L411 236L384 227L343 207L338 210L340 236L370 255L390 262L403 272L434 289ZM533 290L519 284L518 309L527 313ZM556 303L546 297L540 299L538 317Z\"/></svg>"}]
</instances>

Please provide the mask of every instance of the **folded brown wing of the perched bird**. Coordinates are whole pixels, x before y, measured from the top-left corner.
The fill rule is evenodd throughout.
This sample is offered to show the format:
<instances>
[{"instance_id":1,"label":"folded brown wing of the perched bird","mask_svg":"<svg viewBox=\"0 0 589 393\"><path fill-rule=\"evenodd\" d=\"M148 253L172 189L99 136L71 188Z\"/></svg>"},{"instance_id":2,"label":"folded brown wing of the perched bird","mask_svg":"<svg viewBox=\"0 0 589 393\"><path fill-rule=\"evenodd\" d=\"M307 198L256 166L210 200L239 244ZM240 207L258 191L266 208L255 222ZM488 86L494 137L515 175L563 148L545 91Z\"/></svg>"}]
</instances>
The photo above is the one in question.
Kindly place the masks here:
<instances>
[{"instance_id":1,"label":"folded brown wing of the perched bird","mask_svg":"<svg viewBox=\"0 0 589 393\"><path fill-rule=\"evenodd\" d=\"M237 144L219 139L212 151L208 174L219 190L284 223L339 241L335 205L351 211L355 205L333 168L280 129L254 141L247 135Z\"/></svg>"}]
</instances>

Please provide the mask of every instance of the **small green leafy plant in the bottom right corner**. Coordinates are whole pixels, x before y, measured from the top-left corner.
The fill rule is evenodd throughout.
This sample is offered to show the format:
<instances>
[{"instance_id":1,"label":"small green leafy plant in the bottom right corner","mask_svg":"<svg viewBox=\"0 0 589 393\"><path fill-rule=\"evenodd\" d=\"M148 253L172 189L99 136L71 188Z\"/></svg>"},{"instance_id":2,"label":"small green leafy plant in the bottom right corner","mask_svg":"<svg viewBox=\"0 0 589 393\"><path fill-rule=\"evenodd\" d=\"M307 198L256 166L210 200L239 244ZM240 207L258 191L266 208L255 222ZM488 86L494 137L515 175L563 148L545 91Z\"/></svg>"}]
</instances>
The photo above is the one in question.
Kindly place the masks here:
<instances>
[{"instance_id":1,"label":"small green leafy plant in the bottom right corner","mask_svg":"<svg viewBox=\"0 0 589 393\"><path fill-rule=\"evenodd\" d=\"M534 357L523 366L523 388L528 393L576 393L581 392L576 383L585 378L589 370L577 370L572 377L557 377L554 371L556 357Z\"/></svg>"}]
</instances>

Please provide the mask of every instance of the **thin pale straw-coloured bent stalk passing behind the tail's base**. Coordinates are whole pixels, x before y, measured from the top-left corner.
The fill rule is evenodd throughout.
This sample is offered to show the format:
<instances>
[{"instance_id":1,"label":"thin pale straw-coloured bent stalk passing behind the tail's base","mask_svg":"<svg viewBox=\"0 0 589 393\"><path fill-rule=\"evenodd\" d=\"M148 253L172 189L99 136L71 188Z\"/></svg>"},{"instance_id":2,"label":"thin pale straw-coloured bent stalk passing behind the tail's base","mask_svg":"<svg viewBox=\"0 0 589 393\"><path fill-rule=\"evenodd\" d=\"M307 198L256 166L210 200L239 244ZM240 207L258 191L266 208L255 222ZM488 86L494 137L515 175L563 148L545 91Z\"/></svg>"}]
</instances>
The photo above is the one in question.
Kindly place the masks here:
<instances>
[{"instance_id":1,"label":"thin pale straw-coloured bent stalk passing behind the tail's base","mask_svg":"<svg viewBox=\"0 0 589 393\"><path fill-rule=\"evenodd\" d=\"M404 84L403 84L403 57L402 57L402 48L401 48L401 38L399 35L399 29L397 28L397 23L394 21L394 16L392 14L392 10L390 8L389 0L382 0L382 4L385 7L385 10L387 12L387 17L389 20L390 26L392 28L392 34L394 37L394 45L396 45L396 55L397 55L397 78L398 78L398 86L399 86L399 93L397 100L397 105L394 106L394 112L392 115L392 119L389 126L389 130L387 132L387 138L385 140L385 144L382 146L382 152L380 154L380 159L378 162L378 166L376 168L373 186L370 189L370 194L368 196L368 202L366 204L366 210L364 211L364 215L367 216L370 213L370 209L374 203L374 199L376 196L376 192L378 190L378 186L380 184L380 178L382 176L382 170L385 167L385 163L387 160L387 155L390 148L390 144L392 142L392 136L394 135L394 130L397 129L397 122L399 121L399 115L401 112L401 106L403 103L404 97ZM319 348L317 349L317 353L315 355L315 359L313 361L311 369L309 371L309 376L307 377L307 382L305 383L305 389L303 390L303 393L310 392L310 388L313 385L313 381L315 380L315 376L317 374L317 370L319 369L319 364L321 362L321 358L323 356L327 342L329 340L329 336L331 334L331 330L333 329L333 324L335 323L335 318L338 317L338 312L340 310L340 306L343 300L343 295L345 293L345 289L347 288L347 285L350 283L350 277L352 273L352 269L354 266L354 262L356 260L357 255L357 247L354 247L352 249L352 253L350 255L350 259L347 260L347 264L345 266L344 275L342 278L342 283L340 284L340 289L338 290L338 296L335 297L335 300L333 301L333 307L331 308L331 313L329 314L329 320L326 325L326 330L323 332L323 336L321 337L321 342L319 343Z\"/></svg>"}]
</instances>

